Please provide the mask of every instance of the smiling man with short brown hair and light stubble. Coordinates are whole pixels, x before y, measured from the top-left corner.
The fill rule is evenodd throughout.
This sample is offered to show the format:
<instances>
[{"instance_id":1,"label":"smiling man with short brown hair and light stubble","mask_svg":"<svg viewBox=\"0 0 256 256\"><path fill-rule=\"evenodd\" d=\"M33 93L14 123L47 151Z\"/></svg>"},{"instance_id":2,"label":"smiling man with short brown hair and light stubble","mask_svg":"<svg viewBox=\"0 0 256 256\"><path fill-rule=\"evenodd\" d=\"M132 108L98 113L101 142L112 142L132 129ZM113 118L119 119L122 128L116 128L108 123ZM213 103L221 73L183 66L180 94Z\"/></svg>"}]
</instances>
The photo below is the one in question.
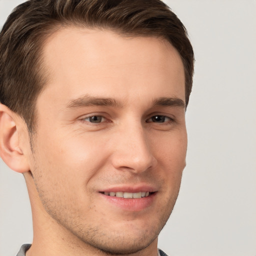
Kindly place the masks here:
<instances>
[{"instance_id":1,"label":"smiling man with short brown hair and light stubble","mask_svg":"<svg viewBox=\"0 0 256 256\"><path fill-rule=\"evenodd\" d=\"M165 255L193 50L159 0L28 0L0 33L0 155L23 173L18 255Z\"/></svg>"}]
</instances>

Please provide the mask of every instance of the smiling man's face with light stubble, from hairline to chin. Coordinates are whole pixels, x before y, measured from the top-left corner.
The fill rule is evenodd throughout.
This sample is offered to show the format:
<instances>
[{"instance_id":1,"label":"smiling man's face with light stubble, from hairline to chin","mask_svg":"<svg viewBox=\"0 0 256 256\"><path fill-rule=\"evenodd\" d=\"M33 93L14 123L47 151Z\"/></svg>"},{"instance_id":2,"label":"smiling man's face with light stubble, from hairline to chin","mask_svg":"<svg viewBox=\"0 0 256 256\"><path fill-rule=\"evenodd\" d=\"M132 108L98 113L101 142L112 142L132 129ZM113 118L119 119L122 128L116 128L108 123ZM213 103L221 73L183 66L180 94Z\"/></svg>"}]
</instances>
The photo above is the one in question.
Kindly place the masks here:
<instances>
[{"instance_id":1,"label":"smiling man's face with light stubble, from hairline to chin","mask_svg":"<svg viewBox=\"0 0 256 256\"><path fill-rule=\"evenodd\" d=\"M112 253L155 243L185 166L177 51L159 38L65 28L43 59L30 166L46 218L69 241Z\"/></svg>"}]
</instances>

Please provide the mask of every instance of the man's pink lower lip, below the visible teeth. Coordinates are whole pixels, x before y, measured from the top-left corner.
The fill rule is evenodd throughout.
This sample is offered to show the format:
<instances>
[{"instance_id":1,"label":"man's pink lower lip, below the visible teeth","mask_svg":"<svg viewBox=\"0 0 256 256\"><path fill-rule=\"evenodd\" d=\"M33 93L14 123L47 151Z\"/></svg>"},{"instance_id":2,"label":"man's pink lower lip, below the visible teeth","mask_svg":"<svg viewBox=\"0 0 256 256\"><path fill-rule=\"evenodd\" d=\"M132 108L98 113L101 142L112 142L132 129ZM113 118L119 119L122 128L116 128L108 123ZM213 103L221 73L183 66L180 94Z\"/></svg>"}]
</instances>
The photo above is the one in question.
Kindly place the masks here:
<instances>
[{"instance_id":1,"label":"man's pink lower lip, below the visible teeth","mask_svg":"<svg viewBox=\"0 0 256 256\"><path fill-rule=\"evenodd\" d=\"M141 198L123 198L117 196L109 196L102 193L100 193L100 195L104 200L121 209L126 211L140 211L149 207L153 203L156 192Z\"/></svg>"}]
</instances>

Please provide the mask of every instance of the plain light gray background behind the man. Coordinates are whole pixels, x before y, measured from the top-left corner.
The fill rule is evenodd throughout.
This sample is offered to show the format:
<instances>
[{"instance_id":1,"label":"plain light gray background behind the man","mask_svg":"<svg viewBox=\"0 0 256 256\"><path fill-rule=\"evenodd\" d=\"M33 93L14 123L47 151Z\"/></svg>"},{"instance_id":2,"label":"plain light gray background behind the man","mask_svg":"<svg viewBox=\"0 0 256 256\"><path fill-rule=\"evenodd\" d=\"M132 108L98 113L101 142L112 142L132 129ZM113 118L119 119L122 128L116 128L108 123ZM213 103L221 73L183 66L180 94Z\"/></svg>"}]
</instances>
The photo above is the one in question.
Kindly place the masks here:
<instances>
[{"instance_id":1,"label":"plain light gray background behind the man","mask_svg":"<svg viewBox=\"0 0 256 256\"><path fill-rule=\"evenodd\" d=\"M22 0L0 0L0 26ZM256 1L166 0L196 64L187 166L159 247L172 256L256 256ZM21 174L0 160L0 256L32 241Z\"/></svg>"}]
</instances>

